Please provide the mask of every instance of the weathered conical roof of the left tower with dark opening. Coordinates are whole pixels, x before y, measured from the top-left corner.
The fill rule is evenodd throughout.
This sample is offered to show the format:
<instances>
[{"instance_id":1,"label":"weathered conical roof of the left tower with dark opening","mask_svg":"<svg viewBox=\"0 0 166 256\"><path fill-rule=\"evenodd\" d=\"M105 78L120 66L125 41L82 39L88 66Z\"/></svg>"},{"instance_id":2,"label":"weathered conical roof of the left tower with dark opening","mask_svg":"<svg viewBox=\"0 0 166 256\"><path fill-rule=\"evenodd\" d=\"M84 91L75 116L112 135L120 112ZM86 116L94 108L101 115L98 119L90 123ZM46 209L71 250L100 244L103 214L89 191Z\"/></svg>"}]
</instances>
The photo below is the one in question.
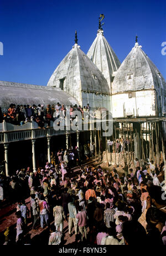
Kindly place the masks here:
<instances>
[{"instance_id":1,"label":"weathered conical roof of the left tower with dark opening","mask_svg":"<svg viewBox=\"0 0 166 256\"><path fill-rule=\"evenodd\" d=\"M61 84L63 81L63 85ZM110 93L107 81L96 65L75 43L71 51L54 71L48 87L62 88L74 96L75 91Z\"/></svg>"}]
</instances>

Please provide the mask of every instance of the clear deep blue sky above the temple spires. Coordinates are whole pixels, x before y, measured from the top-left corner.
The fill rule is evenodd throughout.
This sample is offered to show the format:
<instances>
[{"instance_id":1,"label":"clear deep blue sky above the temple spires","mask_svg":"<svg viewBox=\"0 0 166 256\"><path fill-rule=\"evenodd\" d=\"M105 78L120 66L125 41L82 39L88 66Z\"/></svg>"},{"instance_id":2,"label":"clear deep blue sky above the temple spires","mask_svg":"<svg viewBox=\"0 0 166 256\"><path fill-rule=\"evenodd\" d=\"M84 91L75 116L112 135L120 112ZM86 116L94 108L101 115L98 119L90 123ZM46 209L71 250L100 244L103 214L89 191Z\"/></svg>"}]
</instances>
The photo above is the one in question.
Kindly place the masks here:
<instances>
[{"instance_id":1,"label":"clear deep blue sky above the temple spires","mask_svg":"<svg viewBox=\"0 0 166 256\"><path fill-rule=\"evenodd\" d=\"M77 30L81 50L95 40L98 17L105 14L104 35L122 62L139 45L166 80L165 0L1 0L0 80L46 85L74 45Z\"/></svg>"}]
</instances>

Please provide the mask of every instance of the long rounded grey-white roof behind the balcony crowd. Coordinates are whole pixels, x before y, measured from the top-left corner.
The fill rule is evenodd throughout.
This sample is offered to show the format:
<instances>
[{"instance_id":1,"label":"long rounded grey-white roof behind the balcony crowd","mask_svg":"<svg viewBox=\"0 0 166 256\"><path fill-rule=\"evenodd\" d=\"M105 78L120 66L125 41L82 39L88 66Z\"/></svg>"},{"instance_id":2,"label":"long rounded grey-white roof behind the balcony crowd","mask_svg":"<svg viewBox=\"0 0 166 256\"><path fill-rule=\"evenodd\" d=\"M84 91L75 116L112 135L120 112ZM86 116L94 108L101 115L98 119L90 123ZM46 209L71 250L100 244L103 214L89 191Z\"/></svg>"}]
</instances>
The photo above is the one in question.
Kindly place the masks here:
<instances>
[{"instance_id":1,"label":"long rounded grey-white roof behind the balcony crowd","mask_svg":"<svg viewBox=\"0 0 166 256\"><path fill-rule=\"evenodd\" d=\"M0 91L0 107L2 109L7 109L12 103L15 105L43 104L46 106L59 102L66 106L70 106L71 104L79 105L79 102L74 97L61 91L60 88L0 81Z\"/></svg>"}]
</instances>

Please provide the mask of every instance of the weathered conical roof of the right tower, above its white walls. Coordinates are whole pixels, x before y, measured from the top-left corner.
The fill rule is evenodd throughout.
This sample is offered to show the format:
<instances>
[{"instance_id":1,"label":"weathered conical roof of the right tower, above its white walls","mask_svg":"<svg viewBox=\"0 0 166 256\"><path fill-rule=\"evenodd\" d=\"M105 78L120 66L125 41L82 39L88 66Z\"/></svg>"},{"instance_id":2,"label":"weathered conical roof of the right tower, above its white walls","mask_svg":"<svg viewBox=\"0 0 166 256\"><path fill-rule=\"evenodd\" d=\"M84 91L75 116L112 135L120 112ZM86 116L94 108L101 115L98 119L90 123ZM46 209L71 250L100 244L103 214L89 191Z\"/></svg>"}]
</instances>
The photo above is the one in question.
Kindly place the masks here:
<instances>
[{"instance_id":1,"label":"weathered conical roof of the right tower, above its white walls","mask_svg":"<svg viewBox=\"0 0 166 256\"><path fill-rule=\"evenodd\" d=\"M112 93L146 89L166 90L164 77L136 41L118 69L112 83Z\"/></svg>"}]
</instances>

